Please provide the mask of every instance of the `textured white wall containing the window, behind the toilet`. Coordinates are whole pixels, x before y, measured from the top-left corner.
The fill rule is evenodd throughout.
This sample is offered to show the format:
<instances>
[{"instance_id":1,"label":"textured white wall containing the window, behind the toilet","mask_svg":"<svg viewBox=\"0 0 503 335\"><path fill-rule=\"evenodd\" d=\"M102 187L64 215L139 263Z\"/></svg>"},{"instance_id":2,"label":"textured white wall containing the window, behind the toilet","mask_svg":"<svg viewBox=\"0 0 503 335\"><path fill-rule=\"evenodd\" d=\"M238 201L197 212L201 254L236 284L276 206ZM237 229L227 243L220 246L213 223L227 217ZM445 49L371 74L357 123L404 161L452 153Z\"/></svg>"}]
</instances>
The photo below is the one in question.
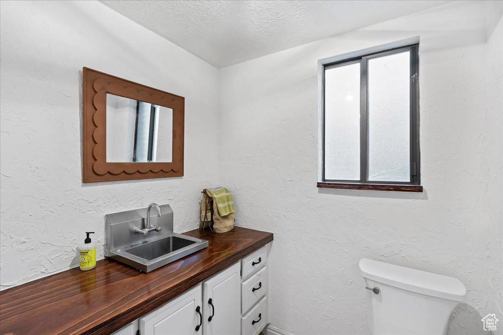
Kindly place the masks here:
<instances>
[{"instance_id":1,"label":"textured white wall containing the window, behind the toilet","mask_svg":"<svg viewBox=\"0 0 503 335\"><path fill-rule=\"evenodd\" d=\"M483 333L495 300L485 6L452 3L220 70L219 181L237 225L275 234L273 326L368 334L366 257L459 278L467 299L449 333ZM317 60L414 36L425 192L317 189Z\"/></svg>"}]
</instances>

